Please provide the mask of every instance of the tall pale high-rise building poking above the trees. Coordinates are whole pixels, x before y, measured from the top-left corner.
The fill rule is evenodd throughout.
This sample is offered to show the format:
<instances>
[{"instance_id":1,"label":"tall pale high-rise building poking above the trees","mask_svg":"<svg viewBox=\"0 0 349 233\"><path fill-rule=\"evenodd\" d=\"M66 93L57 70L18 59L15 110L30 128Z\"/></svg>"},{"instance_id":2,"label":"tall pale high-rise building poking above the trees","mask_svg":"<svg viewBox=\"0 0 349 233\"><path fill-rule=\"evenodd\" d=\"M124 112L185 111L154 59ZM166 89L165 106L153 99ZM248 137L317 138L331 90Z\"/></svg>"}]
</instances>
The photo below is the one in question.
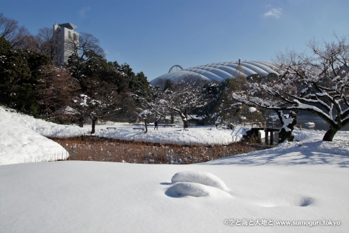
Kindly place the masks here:
<instances>
[{"instance_id":1,"label":"tall pale high-rise building poking above the trees","mask_svg":"<svg viewBox=\"0 0 349 233\"><path fill-rule=\"evenodd\" d=\"M74 24L67 22L65 24L53 24L54 36L57 36L59 43L59 59L60 63L68 62L68 58L74 52L74 44L79 43L79 34L74 31L77 28Z\"/></svg>"}]
</instances>

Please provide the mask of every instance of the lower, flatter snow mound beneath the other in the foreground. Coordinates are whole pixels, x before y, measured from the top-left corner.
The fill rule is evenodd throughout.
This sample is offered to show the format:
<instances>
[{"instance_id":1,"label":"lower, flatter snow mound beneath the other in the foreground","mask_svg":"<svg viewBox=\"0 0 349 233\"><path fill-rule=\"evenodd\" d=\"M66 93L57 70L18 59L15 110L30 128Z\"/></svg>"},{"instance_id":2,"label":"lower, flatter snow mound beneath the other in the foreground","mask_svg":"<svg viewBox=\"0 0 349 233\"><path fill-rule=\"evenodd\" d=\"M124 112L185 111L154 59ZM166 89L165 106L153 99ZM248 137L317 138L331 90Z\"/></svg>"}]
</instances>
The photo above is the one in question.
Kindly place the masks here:
<instances>
[{"instance_id":1,"label":"lower, flatter snow mound beneath the other in the foreground","mask_svg":"<svg viewBox=\"0 0 349 233\"><path fill-rule=\"evenodd\" d=\"M200 183L179 182L171 187L179 196L192 197L231 197L227 192Z\"/></svg>"}]
</instances>

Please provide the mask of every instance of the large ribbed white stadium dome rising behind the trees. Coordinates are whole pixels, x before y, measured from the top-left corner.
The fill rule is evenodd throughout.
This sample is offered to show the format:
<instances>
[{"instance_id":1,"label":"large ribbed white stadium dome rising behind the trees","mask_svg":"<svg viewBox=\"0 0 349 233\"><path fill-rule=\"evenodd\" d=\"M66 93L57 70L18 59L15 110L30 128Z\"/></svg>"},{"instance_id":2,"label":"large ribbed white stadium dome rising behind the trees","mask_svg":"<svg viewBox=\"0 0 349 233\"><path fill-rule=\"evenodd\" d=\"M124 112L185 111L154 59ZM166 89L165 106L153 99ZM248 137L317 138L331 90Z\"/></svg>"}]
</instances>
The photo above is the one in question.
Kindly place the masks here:
<instances>
[{"instance_id":1,"label":"large ribbed white stadium dome rising behind the trees","mask_svg":"<svg viewBox=\"0 0 349 233\"><path fill-rule=\"evenodd\" d=\"M175 65L179 68L181 66ZM173 68L174 66L172 66ZM179 71L166 73L154 80L151 80L151 84L154 84L159 79L170 79L174 83L181 77L186 75L200 76L202 79L209 82L221 82L226 78L237 78L238 76L249 76L254 73L261 75L267 75L268 73L276 73L276 67L272 62L253 62L253 61L240 61L239 62L219 62L213 64L206 64L203 66L195 66L188 69L181 69Z\"/></svg>"}]
</instances>

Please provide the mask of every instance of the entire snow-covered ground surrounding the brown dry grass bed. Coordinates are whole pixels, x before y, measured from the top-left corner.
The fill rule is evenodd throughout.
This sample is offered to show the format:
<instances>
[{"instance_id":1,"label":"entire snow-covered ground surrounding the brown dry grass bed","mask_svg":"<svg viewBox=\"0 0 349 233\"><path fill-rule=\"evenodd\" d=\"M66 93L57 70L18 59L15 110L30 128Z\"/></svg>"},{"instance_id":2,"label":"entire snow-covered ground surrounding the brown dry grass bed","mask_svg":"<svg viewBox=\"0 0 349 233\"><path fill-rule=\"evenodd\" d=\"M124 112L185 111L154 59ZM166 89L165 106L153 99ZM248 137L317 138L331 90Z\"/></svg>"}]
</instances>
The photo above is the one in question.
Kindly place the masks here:
<instances>
[{"instance_id":1,"label":"entire snow-covered ground surrounding the brown dry grass bed","mask_svg":"<svg viewBox=\"0 0 349 233\"><path fill-rule=\"evenodd\" d=\"M90 130L4 108L0 124L1 162L17 155L37 154L38 160L61 155L57 151L64 149L44 136ZM137 140L144 135L117 128L98 134L133 133L133 139L140 134ZM188 132L193 131L195 143L205 134L214 134L212 143L229 132L214 127ZM167 133L180 142L186 138L177 137L188 132L159 127L149 129L146 139ZM229 140L240 135L227 134ZM349 232L349 132L338 132L333 142L321 141L323 134L296 129L298 141L202 164L31 160L3 165L0 232Z\"/></svg>"}]
</instances>

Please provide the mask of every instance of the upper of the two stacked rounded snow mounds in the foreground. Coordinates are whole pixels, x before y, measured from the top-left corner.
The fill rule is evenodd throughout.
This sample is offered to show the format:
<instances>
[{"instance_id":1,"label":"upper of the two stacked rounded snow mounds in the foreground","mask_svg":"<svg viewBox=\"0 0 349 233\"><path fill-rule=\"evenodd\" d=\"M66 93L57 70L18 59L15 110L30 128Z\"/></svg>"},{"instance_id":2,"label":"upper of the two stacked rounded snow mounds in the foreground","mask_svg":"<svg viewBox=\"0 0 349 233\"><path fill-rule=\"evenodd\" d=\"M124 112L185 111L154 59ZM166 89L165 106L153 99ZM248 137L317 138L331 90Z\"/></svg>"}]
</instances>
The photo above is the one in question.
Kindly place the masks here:
<instances>
[{"instance_id":1,"label":"upper of the two stacked rounded snow mounds in the foreground","mask_svg":"<svg viewBox=\"0 0 349 233\"><path fill-rule=\"evenodd\" d=\"M176 182L190 182L190 183L199 183L202 185L208 185L214 188L219 188L220 190L228 190L225 183L211 174L204 171L180 171L174 174L171 179L172 183Z\"/></svg>"}]
</instances>

